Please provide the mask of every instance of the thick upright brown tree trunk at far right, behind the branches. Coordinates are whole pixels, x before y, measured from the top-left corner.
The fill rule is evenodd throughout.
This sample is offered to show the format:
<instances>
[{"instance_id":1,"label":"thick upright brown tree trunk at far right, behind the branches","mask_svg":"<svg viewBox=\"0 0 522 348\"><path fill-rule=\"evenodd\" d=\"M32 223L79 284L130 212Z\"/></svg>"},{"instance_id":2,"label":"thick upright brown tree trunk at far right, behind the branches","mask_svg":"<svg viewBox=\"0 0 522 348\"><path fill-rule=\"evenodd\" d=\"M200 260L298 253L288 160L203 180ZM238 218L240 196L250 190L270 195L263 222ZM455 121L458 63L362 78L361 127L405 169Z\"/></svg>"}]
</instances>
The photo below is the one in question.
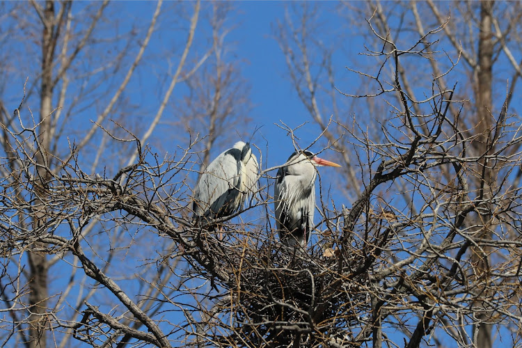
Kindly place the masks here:
<instances>
[{"instance_id":1,"label":"thick upright brown tree trunk at far right, behind the branches","mask_svg":"<svg viewBox=\"0 0 522 348\"><path fill-rule=\"evenodd\" d=\"M477 132L478 142L475 145L475 150L478 153L484 154L491 152L488 148L492 147L491 144L491 86L492 86L492 74L491 64L493 58L493 33L491 32L492 24L492 8L493 1L482 1L480 4L480 33L479 33L479 44L478 44L478 65L477 69ZM484 201L491 198L491 189L493 185L493 170L487 162L487 159L481 159L480 161L480 177L477 180L477 187L480 188L479 194L483 197ZM488 209L486 209L488 211ZM490 221L490 214L480 215L480 225L482 232L477 235L478 238L491 239L491 230L485 226L487 221ZM483 248L473 248L472 260L476 268L476 276L483 278L483 286L488 286L488 254L487 250ZM486 290L487 292L487 290ZM473 338L475 340L475 346L479 348L491 348L491 324L487 324L488 313L482 312L478 318L480 322L475 324L473 328Z\"/></svg>"}]
</instances>

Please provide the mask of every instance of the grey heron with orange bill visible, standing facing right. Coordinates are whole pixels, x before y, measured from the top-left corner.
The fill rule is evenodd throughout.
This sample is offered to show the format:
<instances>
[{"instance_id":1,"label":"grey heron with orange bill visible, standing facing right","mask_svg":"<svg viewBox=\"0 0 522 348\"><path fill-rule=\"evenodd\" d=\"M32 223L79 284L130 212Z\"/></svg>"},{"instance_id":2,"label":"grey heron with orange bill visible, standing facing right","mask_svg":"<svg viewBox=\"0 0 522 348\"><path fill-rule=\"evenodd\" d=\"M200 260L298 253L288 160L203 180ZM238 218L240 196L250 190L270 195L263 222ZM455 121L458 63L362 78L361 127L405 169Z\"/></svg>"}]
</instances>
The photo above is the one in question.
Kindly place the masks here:
<instances>
[{"instance_id":1,"label":"grey heron with orange bill visible, standing facing right","mask_svg":"<svg viewBox=\"0 0 522 348\"><path fill-rule=\"evenodd\" d=\"M279 168L274 185L274 205L279 238L287 246L306 247L314 227L315 167L339 164L310 151L294 152Z\"/></svg>"}]
</instances>

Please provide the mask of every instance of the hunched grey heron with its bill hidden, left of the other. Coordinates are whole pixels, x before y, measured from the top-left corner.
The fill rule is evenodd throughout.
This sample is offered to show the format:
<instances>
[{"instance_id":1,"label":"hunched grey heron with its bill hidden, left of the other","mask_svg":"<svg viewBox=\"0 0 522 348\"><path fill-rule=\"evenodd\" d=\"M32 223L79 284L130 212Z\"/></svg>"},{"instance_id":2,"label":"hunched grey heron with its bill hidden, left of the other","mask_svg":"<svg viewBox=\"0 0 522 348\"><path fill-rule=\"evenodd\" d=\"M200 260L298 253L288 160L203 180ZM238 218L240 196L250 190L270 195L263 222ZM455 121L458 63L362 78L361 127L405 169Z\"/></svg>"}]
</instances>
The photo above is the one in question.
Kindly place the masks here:
<instances>
[{"instance_id":1,"label":"hunched grey heron with its bill hidden, left of the other","mask_svg":"<svg viewBox=\"0 0 522 348\"><path fill-rule=\"evenodd\" d=\"M194 190L196 223L212 223L239 210L247 196L258 191L258 160L249 143L238 141L221 152L205 171Z\"/></svg>"}]
</instances>

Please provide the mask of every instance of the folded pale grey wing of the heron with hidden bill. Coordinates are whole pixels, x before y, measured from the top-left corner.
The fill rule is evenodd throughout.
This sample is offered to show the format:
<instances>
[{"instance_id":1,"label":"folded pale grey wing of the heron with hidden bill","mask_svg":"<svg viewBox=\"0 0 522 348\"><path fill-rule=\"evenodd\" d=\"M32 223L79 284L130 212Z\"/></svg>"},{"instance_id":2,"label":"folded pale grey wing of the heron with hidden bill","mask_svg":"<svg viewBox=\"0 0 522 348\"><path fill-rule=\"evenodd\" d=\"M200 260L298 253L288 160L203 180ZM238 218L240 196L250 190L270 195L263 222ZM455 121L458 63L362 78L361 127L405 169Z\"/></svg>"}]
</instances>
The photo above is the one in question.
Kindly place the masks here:
<instances>
[{"instance_id":1,"label":"folded pale grey wing of the heron with hidden bill","mask_svg":"<svg viewBox=\"0 0 522 348\"><path fill-rule=\"evenodd\" d=\"M221 153L201 175L194 195L194 215L217 215L228 211L231 195L237 194L239 173L234 157Z\"/></svg>"}]
</instances>

